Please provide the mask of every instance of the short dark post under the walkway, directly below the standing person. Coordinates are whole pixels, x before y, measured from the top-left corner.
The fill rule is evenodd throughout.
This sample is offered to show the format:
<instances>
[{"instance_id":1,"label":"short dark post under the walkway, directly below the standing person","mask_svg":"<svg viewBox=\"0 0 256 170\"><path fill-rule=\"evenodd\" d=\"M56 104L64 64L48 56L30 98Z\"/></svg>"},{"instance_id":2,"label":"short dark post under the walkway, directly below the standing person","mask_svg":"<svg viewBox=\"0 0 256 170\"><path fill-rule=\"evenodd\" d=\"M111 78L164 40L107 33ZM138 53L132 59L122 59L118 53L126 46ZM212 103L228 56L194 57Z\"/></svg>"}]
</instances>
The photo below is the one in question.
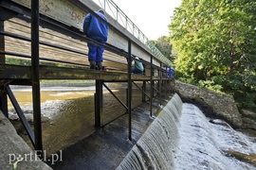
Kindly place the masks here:
<instances>
[{"instance_id":1,"label":"short dark post under the walkway, directly below the standing person","mask_svg":"<svg viewBox=\"0 0 256 170\"><path fill-rule=\"evenodd\" d=\"M102 80L96 80L96 93L95 93L95 126L101 127L102 120Z\"/></svg>"}]
</instances>

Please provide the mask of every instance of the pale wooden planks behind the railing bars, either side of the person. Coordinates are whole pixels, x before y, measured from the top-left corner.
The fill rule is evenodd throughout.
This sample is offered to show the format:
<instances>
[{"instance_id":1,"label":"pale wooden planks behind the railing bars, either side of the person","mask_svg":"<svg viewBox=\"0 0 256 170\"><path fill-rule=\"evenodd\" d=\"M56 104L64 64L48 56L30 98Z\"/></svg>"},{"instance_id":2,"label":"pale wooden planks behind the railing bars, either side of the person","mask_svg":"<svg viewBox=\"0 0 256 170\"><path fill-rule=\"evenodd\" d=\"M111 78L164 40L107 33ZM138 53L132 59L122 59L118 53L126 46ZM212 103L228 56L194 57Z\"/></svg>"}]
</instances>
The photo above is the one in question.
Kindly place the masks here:
<instances>
[{"instance_id":1,"label":"pale wooden planks behind the railing bars, either side of the person","mask_svg":"<svg viewBox=\"0 0 256 170\"><path fill-rule=\"evenodd\" d=\"M10 32L16 35L24 36L30 38L30 24L26 21L12 18L9 21L5 22L5 31ZM6 46L5 50L12 53L20 53L25 55L30 55L30 42L26 42L23 40L18 40L11 38L9 36L5 36ZM88 47L86 42L82 42L80 40L73 39L71 37L65 36L61 33L56 31L40 27L40 41L42 42L50 42L51 44L59 45L65 48L69 48L72 50L77 50L79 52L84 53L85 55L73 53L69 51L64 51L62 49L57 49L53 47L49 47L43 44L40 44L40 57L46 59L58 59L64 60L68 62L76 62L81 64L88 65ZM13 56L6 55L6 58L14 58ZM111 53L109 51L104 52L103 58L103 65L109 68L115 68L120 70L126 70L127 66L125 65L126 59ZM114 60L120 63L116 63Z\"/></svg>"}]
</instances>

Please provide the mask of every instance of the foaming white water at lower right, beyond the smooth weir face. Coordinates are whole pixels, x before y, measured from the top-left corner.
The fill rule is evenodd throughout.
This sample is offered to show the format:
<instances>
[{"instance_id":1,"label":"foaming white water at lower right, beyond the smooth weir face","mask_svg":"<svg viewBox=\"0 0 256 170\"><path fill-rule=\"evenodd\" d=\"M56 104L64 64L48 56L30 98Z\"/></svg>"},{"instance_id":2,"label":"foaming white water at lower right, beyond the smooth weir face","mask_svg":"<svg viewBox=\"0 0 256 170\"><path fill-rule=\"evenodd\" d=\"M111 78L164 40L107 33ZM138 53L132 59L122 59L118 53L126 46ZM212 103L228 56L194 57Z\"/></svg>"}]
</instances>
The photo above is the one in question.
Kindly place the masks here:
<instances>
[{"instance_id":1,"label":"foaming white water at lower right, beyond the smooth weir face","mask_svg":"<svg viewBox=\"0 0 256 170\"><path fill-rule=\"evenodd\" d=\"M229 155L235 151L256 156L256 137L234 130L223 120L207 118L192 104L183 104L175 169L255 170Z\"/></svg>"}]
</instances>

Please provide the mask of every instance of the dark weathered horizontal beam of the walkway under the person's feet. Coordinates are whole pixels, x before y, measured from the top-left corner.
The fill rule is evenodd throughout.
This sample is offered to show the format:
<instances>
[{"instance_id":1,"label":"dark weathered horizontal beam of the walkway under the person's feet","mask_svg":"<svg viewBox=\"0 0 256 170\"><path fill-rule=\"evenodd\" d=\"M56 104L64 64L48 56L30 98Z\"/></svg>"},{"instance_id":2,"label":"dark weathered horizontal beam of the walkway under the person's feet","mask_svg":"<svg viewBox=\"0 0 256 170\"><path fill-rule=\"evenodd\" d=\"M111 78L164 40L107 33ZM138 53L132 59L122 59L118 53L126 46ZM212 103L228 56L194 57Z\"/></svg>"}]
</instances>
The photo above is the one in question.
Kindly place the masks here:
<instances>
[{"instance_id":1,"label":"dark weathered horizontal beam of the walkway under the person's feet","mask_svg":"<svg viewBox=\"0 0 256 170\"><path fill-rule=\"evenodd\" d=\"M160 77L155 76L157 80ZM0 79L31 79L31 67L0 64ZM102 79L104 81L127 81L127 73L102 72L88 68L40 66L40 79ZM132 74L132 80L150 80L150 76ZM17 82L17 81L15 81Z\"/></svg>"}]
</instances>

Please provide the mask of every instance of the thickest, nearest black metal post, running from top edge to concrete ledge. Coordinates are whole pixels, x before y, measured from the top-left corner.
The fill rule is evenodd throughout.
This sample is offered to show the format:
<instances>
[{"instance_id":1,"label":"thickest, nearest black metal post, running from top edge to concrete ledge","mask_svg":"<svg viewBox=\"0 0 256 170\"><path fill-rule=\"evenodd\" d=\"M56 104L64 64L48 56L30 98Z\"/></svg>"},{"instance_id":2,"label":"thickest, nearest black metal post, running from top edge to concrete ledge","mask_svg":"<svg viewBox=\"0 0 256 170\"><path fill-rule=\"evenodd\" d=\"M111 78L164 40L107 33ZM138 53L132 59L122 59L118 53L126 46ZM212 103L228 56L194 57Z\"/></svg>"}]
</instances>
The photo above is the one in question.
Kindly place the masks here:
<instances>
[{"instance_id":1,"label":"thickest, nearest black metal post, running from top edge to concrete ledge","mask_svg":"<svg viewBox=\"0 0 256 170\"><path fill-rule=\"evenodd\" d=\"M35 150L43 158L40 77L39 77L39 0L31 0L31 74Z\"/></svg>"}]
</instances>

